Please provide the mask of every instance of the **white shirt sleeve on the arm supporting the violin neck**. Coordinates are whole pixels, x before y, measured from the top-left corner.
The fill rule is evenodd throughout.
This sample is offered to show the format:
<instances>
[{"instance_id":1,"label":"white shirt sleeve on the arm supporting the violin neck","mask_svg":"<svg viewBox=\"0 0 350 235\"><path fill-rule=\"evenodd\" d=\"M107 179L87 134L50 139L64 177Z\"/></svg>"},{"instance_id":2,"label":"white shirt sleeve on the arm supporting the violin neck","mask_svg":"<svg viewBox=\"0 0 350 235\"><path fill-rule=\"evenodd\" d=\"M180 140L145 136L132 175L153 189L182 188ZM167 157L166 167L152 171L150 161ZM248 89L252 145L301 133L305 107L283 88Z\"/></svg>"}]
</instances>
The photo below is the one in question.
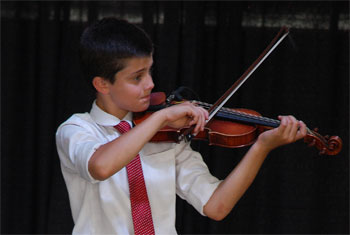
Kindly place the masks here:
<instances>
[{"instance_id":1,"label":"white shirt sleeve on the arm supporting the violin neck","mask_svg":"<svg viewBox=\"0 0 350 235\"><path fill-rule=\"evenodd\" d=\"M176 146L176 193L200 214L221 180L210 174L202 156L189 144Z\"/></svg>"}]
</instances>

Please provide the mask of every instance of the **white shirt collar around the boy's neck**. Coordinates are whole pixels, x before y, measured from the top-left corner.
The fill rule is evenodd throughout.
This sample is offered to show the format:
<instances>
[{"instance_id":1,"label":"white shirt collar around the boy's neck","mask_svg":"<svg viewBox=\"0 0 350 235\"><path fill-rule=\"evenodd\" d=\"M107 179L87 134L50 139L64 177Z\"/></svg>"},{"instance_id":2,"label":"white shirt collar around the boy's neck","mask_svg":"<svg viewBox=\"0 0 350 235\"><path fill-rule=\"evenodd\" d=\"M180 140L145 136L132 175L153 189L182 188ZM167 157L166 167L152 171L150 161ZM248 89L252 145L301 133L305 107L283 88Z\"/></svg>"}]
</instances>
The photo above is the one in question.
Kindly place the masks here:
<instances>
[{"instance_id":1,"label":"white shirt collar around the boy's neck","mask_svg":"<svg viewBox=\"0 0 350 235\"><path fill-rule=\"evenodd\" d=\"M98 107L96 100L92 104L90 116L97 124L102 126L115 126L121 121L119 118L103 111L100 107ZM132 112L126 114L123 120L129 122L129 124L132 126Z\"/></svg>"}]
</instances>

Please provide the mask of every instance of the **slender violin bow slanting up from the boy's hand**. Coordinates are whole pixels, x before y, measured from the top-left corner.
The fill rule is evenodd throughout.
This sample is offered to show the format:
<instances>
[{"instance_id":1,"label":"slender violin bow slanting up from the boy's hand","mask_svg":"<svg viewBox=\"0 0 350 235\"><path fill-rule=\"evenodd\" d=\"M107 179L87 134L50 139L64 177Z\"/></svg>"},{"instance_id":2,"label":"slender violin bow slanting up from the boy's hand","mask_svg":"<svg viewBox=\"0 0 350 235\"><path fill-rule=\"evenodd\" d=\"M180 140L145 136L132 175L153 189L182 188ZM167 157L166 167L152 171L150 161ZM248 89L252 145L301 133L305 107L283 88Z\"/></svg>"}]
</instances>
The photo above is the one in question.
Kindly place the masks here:
<instances>
[{"instance_id":1,"label":"slender violin bow slanting up from the boy's hand","mask_svg":"<svg viewBox=\"0 0 350 235\"><path fill-rule=\"evenodd\" d=\"M211 106L208 110L209 118L206 121L208 123L215 114L224 106L224 104L231 98L231 96L243 85L243 83L253 74L253 72L261 65L262 62L272 53L273 50L283 41L289 34L289 29L283 26L277 35L272 39L270 44L260 54L260 56L254 61L252 65L243 73L243 75ZM190 141L193 138L192 131L194 126L186 129L180 136L179 141L185 139Z\"/></svg>"}]
</instances>

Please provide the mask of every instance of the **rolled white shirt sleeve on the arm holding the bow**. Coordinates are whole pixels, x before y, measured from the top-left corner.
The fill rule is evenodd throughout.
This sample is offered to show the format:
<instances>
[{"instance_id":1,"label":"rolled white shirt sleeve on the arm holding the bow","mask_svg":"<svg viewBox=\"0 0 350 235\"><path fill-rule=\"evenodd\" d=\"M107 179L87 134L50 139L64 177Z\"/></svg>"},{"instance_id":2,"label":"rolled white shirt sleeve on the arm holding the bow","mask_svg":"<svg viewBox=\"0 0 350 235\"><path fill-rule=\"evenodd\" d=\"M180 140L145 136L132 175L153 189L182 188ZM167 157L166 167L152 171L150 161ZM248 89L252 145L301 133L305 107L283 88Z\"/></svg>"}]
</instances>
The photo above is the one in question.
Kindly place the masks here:
<instances>
[{"instance_id":1,"label":"rolled white shirt sleeve on the arm holding the bow","mask_svg":"<svg viewBox=\"0 0 350 235\"><path fill-rule=\"evenodd\" d=\"M96 183L88 170L88 163L94 152L104 143L86 127L64 124L56 132L56 145L61 166L64 170L79 174L85 180Z\"/></svg>"}]
</instances>

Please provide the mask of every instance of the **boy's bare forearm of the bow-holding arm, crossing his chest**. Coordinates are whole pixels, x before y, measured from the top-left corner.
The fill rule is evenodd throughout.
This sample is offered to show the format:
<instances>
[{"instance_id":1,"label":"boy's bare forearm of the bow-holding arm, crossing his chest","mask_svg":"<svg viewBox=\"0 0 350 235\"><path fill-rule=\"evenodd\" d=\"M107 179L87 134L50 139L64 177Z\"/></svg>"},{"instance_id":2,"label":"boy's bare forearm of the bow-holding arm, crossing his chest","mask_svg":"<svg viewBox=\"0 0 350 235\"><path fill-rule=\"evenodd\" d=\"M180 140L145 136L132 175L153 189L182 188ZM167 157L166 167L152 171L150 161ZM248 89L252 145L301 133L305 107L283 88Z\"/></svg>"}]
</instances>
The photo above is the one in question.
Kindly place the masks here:
<instances>
[{"instance_id":1,"label":"boy's bare forearm of the bow-holding arm, crossing his chest","mask_svg":"<svg viewBox=\"0 0 350 235\"><path fill-rule=\"evenodd\" d=\"M156 112L129 132L102 145L89 161L91 176L104 180L121 170L137 156L142 147L165 123L165 115Z\"/></svg>"}]
</instances>

